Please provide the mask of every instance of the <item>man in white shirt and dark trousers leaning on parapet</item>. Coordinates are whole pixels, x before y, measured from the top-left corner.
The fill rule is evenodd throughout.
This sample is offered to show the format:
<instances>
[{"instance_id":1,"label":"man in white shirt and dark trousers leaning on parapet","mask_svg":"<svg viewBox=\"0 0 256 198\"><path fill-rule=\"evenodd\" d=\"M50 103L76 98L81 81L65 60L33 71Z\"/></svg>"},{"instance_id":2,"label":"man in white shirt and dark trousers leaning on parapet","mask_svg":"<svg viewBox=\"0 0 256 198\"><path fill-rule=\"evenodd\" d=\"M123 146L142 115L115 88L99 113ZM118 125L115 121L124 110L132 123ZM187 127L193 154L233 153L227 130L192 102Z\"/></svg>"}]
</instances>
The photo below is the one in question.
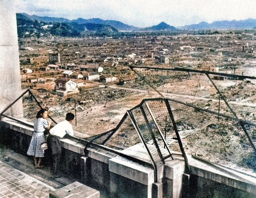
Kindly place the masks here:
<instances>
[{"instance_id":1,"label":"man in white shirt and dark trousers leaning on parapet","mask_svg":"<svg viewBox=\"0 0 256 198\"><path fill-rule=\"evenodd\" d=\"M63 138L64 136L74 136L74 130L71 124L74 118L75 118L75 115L73 113L67 113L66 119L56 124L49 131L50 134L47 137L47 144L48 144L49 152L52 155L51 159L52 159L53 174L58 174L60 171L61 152L62 152L60 138Z\"/></svg>"}]
</instances>

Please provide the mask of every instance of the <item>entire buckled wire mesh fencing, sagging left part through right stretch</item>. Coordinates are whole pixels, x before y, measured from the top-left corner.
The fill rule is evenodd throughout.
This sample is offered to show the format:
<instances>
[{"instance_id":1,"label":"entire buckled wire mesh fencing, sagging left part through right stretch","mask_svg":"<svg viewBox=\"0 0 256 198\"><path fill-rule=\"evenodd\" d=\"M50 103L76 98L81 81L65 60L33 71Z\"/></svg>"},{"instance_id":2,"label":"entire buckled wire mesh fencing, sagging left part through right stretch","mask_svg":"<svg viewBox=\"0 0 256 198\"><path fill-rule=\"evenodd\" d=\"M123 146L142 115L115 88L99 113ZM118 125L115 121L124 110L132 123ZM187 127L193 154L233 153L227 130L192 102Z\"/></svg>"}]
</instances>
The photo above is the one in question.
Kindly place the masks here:
<instances>
[{"instance_id":1,"label":"entire buckled wire mesh fencing, sagging left part through right stretch","mask_svg":"<svg viewBox=\"0 0 256 198\"><path fill-rule=\"evenodd\" d=\"M171 107L174 123L171 121L166 101ZM140 135L145 142L144 146L157 164L164 158L170 157L170 154L182 154L174 130L176 125L186 155L195 155L209 162L235 169L245 171L256 169L254 146L241 126L244 124L252 141L255 142L256 126L253 123L162 98L144 100L130 112L134 117L135 125L126 114L119 128L112 131L111 135L107 136L107 141L103 141L102 144L126 149L141 143ZM171 153L166 148L165 142Z\"/></svg>"}]
</instances>

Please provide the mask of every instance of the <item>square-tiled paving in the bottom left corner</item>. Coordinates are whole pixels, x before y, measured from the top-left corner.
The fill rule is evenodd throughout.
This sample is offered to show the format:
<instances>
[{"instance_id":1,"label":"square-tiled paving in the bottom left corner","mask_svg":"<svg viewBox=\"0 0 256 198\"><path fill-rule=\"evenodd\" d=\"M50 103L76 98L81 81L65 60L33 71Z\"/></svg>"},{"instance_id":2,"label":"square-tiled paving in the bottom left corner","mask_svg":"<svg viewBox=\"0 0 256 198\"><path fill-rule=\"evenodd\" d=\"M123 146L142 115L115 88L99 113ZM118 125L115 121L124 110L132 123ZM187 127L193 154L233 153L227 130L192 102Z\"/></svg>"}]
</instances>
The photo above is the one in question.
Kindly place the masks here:
<instances>
[{"instance_id":1,"label":"square-tiled paving in the bottom left corner","mask_svg":"<svg viewBox=\"0 0 256 198\"><path fill-rule=\"evenodd\" d=\"M1 198L48 198L54 188L0 161Z\"/></svg>"}]
</instances>

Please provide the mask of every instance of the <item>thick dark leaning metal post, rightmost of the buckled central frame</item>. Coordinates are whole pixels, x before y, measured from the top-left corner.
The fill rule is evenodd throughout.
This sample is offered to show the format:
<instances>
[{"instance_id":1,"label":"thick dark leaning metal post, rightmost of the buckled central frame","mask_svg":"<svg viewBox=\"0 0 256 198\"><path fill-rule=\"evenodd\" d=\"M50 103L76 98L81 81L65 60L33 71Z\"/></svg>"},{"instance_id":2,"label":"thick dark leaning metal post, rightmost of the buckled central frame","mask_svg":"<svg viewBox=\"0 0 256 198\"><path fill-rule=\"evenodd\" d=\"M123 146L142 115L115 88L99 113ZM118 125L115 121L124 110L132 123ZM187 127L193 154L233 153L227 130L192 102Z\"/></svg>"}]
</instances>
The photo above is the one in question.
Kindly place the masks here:
<instances>
[{"instance_id":1,"label":"thick dark leaning metal post, rightmost of the buckled central frame","mask_svg":"<svg viewBox=\"0 0 256 198\"><path fill-rule=\"evenodd\" d=\"M187 155L186 155L185 150L183 148L182 141L181 141L181 138L180 138L180 134L178 133L178 129L177 129L177 126L176 126L176 123L175 123L175 120L174 120L174 116L172 114L171 106L170 106L170 103L169 103L168 99L165 99L165 103L166 103L166 107L168 109L168 113L169 113L171 121L172 121L172 125L174 127L175 134L177 136L177 141L178 141L178 144L180 146L181 153L182 153L182 155L183 155L183 157L185 159L185 166L186 166L185 168L187 168L187 171L190 173L191 170L190 170L190 166L188 165Z\"/></svg>"}]
</instances>

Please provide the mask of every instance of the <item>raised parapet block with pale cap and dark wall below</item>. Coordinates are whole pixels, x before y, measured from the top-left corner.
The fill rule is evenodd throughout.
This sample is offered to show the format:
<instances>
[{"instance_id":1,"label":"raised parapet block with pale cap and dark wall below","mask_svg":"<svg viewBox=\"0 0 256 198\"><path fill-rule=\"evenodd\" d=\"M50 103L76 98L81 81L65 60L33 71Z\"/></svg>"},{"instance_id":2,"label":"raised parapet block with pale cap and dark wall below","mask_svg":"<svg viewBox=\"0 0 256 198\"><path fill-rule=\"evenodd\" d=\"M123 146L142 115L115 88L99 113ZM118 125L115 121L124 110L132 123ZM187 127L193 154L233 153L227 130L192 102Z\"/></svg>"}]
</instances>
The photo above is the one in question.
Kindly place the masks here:
<instances>
[{"instance_id":1,"label":"raised parapet block with pale cap and dark wall below","mask_svg":"<svg viewBox=\"0 0 256 198\"><path fill-rule=\"evenodd\" d=\"M120 156L109 160L110 194L120 198L151 198L154 169ZM155 184L155 194L159 187Z\"/></svg>"}]
</instances>

